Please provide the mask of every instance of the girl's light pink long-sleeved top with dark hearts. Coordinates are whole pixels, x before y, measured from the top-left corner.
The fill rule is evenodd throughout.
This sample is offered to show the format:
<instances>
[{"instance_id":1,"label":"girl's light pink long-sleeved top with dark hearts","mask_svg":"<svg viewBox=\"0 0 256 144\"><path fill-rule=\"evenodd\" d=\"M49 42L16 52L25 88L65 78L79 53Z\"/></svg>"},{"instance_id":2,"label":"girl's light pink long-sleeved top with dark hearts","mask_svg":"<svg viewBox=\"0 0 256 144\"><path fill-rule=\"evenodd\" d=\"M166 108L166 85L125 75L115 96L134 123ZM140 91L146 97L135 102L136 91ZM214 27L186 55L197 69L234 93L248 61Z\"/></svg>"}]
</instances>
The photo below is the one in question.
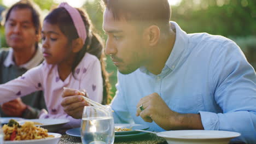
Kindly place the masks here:
<instances>
[{"instance_id":1,"label":"girl's light pink long-sleeved top with dark hearts","mask_svg":"<svg viewBox=\"0 0 256 144\"><path fill-rule=\"evenodd\" d=\"M75 77L71 73L65 81L59 78L57 69L57 65L47 64L44 61L17 79L0 85L0 104L43 90L48 113L42 113L39 118L66 118L70 122L65 125L65 128L79 127L80 119L74 119L63 111L61 93L63 87L85 89L90 99L101 103L103 80L100 61L96 56L86 53L75 68Z\"/></svg>"}]
</instances>

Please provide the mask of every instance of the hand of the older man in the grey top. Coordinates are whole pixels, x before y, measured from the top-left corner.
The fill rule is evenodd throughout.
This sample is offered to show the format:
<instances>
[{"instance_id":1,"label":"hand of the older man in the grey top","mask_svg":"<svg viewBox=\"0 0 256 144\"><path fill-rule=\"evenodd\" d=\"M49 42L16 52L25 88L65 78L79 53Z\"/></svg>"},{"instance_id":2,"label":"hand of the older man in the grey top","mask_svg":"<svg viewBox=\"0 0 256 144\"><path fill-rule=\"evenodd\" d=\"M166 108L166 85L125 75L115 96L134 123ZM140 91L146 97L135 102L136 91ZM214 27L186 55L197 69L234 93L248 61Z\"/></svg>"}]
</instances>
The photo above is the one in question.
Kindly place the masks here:
<instances>
[{"instance_id":1,"label":"hand of the older man in the grey top","mask_svg":"<svg viewBox=\"0 0 256 144\"><path fill-rule=\"evenodd\" d=\"M3 112L11 117L21 117L26 108L27 105L24 104L20 98L11 100L2 105Z\"/></svg>"}]
</instances>

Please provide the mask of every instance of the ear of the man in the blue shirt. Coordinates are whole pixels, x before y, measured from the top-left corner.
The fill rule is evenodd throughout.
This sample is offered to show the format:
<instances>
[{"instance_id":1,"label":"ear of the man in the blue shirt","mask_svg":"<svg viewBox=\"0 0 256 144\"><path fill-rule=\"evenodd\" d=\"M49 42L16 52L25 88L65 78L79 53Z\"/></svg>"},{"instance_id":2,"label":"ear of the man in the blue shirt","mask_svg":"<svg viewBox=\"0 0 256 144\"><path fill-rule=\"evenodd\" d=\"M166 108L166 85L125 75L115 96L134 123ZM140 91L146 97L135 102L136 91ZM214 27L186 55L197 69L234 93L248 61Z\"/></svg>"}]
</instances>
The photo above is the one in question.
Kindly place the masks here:
<instances>
[{"instance_id":1,"label":"ear of the man in the blue shirt","mask_svg":"<svg viewBox=\"0 0 256 144\"><path fill-rule=\"evenodd\" d=\"M144 36L149 46L155 46L160 39L160 29L158 26L152 25L145 29Z\"/></svg>"}]
</instances>

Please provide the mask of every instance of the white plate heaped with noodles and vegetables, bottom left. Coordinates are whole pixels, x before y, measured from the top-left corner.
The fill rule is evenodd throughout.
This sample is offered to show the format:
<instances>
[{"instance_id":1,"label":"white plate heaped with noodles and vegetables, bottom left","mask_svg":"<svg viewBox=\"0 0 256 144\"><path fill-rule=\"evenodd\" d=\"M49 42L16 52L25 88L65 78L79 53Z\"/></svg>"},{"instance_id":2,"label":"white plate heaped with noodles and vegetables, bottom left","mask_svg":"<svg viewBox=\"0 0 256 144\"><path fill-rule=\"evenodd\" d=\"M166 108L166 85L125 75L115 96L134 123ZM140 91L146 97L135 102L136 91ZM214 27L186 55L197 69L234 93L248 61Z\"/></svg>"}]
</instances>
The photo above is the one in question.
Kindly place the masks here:
<instances>
[{"instance_id":1,"label":"white plate heaped with noodles and vegetables, bottom left","mask_svg":"<svg viewBox=\"0 0 256 144\"><path fill-rule=\"evenodd\" d=\"M3 125L5 144L57 144L61 134L48 133L48 130L36 127L32 122L20 125L14 119Z\"/></svg>"}]
</instances>

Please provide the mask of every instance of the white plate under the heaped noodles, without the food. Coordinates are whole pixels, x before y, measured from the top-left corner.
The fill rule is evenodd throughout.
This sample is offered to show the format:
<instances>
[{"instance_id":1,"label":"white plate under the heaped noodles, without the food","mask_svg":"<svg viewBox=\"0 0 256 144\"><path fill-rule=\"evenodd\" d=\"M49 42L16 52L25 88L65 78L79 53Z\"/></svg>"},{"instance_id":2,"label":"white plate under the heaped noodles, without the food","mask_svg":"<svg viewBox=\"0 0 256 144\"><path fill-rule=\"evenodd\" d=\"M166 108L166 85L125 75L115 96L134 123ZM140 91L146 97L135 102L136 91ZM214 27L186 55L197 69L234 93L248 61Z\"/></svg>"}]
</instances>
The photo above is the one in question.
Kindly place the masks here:
<instances>
[{"instance_id":1,"label":"white plate under the heaped noodles, without the food","mask_svg":"<svg viewBox=\"0 0 256 144\"><path fill-rule=\"evenodd\" d=\"M61 134L48 133L48 135L53 135L54 137L38 140L4 141L4 144L57 144L60 141Z\"/></svg>"}]
</instances>

